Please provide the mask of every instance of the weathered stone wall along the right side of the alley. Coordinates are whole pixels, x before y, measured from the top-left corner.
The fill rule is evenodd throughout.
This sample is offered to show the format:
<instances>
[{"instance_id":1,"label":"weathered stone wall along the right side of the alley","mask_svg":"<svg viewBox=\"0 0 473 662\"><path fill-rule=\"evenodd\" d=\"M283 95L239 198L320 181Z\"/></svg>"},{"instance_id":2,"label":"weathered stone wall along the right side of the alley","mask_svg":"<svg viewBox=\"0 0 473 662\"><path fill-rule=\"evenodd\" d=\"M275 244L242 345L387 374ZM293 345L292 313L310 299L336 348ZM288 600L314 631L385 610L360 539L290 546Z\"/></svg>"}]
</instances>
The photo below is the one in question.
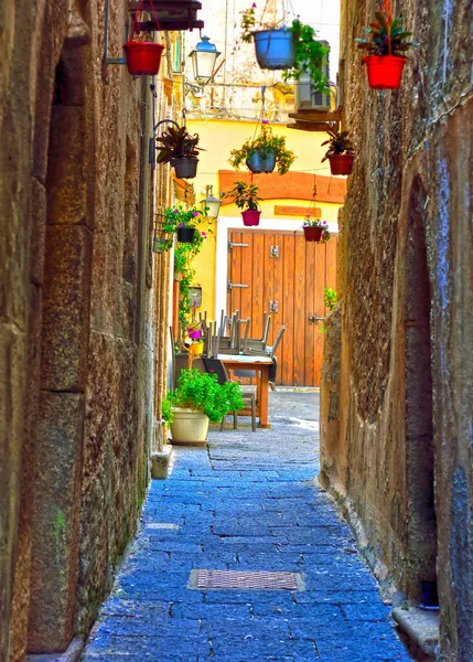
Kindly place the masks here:
<instances>
[{"instance_id":1,"label":"weathered stone wall along the right side of the alley","mask_svg":"<svg viewBox=\"0 0 473 662\"><path fill-rule=\"evenodd\" d=\"M418 601L420 583L438 579L442 660L460 662L473 650L473 8L393 2L421 43L399 92L369 89L355 49L378 9L342 3L357 157L341 215L342 332L338 342L329 331L325 353L340 381L322 388L321 480L386 586Z\"/></svg>"}]
</instances>

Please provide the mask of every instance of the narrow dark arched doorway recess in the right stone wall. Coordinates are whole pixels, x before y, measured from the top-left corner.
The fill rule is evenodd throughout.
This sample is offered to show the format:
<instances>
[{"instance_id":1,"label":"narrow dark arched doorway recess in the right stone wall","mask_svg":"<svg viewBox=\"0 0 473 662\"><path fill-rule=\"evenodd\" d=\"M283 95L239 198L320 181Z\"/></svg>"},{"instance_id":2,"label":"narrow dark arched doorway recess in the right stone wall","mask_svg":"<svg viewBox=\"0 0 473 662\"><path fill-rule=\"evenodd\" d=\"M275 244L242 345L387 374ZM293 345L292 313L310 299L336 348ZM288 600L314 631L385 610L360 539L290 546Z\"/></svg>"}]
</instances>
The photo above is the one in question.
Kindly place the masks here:
<instances>
[{"instance_id":1,"label":"narrow dark arched doorway recess in the right stone wall","mask_svg":"<svg viewBox=\"0 0 473 662\"><path fill-rule=\"evenodd\" d=\"M406 459L408 495L408 594L437 583L434 441L431 370L431 292L426 243L426 193L411 190L406 253ZM434 587L432 587L434 588Z\"/></svg>"}]
</instances>

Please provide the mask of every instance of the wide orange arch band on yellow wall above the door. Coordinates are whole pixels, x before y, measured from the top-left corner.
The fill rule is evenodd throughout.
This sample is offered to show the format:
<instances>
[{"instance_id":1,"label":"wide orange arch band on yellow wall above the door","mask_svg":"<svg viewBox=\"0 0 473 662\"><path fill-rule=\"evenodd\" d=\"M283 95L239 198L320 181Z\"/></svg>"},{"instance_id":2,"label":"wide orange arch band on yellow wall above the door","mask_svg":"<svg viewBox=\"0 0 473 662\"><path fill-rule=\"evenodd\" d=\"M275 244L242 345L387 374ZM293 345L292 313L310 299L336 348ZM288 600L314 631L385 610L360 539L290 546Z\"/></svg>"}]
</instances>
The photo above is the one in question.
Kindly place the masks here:
<instances>
[{"instance_id":1,"label":"wide orange arch band on yellow wall above the door","mask_svg":"<svg viewBox=\"0 0 473 662\"><path fill-rule=\"evenodd\" d=\"M235 170L219 170L219 191L229 191L237 181L249 182L249 172L235 172ZM278 173L255 174L254 183L259 188L259 195L264 200L289 199L312 200L314 175L309 172L290 170L281 177ZM346 194L346 179L315 174L316 201L343 204ZM232 204L224 199L223 204Z\"/></svg>"}]
</instances>

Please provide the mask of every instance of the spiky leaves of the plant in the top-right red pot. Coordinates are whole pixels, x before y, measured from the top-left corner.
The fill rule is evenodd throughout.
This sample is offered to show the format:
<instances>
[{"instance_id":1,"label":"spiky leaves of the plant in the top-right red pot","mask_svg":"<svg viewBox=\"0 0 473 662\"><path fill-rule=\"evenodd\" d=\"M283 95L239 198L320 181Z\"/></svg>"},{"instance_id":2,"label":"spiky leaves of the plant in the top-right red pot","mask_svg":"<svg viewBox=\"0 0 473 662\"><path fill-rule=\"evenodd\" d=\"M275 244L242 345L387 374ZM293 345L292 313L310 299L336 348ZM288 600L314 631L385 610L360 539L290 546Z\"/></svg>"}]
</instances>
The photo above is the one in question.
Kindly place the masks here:
<instances>
[{"instance_id":1,"label":"spiky leaves of the plant in the top-right red pot","mask_svg":"<svg viewBox=\"0 0 473 662\"><path fill-rule=\"evenodd\" d=\"M416 42L406 41L412 32L406 32L402 28L402 19L390 19L381 12L375 12L376 21L365 28L365 36L355 39L358 49L367 51L368 55L397 55L405 57L404 53Z\"/></svg>"}]
</instances>

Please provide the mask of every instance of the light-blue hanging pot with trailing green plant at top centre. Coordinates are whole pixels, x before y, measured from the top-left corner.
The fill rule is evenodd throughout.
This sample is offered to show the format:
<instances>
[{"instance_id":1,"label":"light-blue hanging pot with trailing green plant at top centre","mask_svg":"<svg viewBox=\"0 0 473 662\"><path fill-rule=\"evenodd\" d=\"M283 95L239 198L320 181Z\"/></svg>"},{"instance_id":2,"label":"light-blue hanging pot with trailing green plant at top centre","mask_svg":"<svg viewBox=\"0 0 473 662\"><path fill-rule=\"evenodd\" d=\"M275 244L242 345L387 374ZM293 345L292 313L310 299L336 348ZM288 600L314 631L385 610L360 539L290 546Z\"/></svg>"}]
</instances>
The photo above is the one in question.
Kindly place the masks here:
<instances>
[{"instance_id":1,"label":"light-blue hanging pot with trailing green plant at top centre","mask_svg":"<svg viewBox=\"0 0 473 662\"><path fill-rule=\"evenodd\" d=\"M299 79L309 73L320 92L326 90L329 79L322 71L327 49L316 39L311 25L299 19L291 26L257 22L256 3L241 13L241 40L255 42L256 60L261 68L284 70L284 79ZM256 30L256 28L259 30Z\"/></svg>"}]
</instances>

